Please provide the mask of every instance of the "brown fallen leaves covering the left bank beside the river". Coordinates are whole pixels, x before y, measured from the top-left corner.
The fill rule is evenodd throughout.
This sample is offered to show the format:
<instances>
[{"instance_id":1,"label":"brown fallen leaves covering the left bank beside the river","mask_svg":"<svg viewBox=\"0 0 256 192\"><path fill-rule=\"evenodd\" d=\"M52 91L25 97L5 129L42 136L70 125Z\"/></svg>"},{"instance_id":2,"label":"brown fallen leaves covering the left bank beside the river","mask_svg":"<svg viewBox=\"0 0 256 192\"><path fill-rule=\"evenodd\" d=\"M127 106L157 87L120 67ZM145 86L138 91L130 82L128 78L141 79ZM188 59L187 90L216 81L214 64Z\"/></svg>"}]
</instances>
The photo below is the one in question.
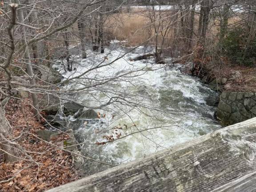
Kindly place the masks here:
<instances>
[{"instance_id":1,"label":"brown fallen leaves covering the left bank beside the river","mask_svg":"<svg viewBox=\"0 0 256 192\"><path fill-rule=\"evenodd\" d=\"M33 116L31 101L26 99L10 100L5 107L6 117L13 128L13 137L20 136L22 132L35 133L44 129ZM61 134L52 139L53 144L63 143L68 139L66 134ZM72 158L68 152L63 152L30 135L24 135L16 140L33 160L41 163L39 167L29 161L15 163L3 163L0 156L0 183L1 192L42 192L49 188L71 182L78 179L76 171L72 168ZM19 152L19 156L26 158Z\"/></svg>"}]
</instances>

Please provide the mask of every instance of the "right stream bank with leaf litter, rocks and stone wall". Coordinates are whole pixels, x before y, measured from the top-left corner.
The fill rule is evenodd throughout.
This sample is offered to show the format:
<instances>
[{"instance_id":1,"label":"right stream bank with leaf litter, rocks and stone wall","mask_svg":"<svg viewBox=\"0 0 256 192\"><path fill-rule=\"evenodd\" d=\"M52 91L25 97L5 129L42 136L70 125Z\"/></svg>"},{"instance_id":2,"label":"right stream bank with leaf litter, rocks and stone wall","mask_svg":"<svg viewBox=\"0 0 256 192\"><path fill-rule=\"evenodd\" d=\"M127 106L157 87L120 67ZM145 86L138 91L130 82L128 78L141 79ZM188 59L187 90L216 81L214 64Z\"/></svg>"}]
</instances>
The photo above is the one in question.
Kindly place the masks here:
<instances>
[{"instance_id":1,"label":"right stream bank with leaf litter, rocks and stone wall","mask_svg":"<svg viewBox=\"0 0 256 192\"><path fill-rule=\"evenodd\" d=\"M184 65L184 71L192 75L193 67L192 62L187 63ZM223 126L256 117L256 92L253 88L254 74L251 68L229 67L217 76L216 73L202 68L199 78L205 84L208 84L209 88L218 93L215 116Z\"/></svg>"}]
</instances>

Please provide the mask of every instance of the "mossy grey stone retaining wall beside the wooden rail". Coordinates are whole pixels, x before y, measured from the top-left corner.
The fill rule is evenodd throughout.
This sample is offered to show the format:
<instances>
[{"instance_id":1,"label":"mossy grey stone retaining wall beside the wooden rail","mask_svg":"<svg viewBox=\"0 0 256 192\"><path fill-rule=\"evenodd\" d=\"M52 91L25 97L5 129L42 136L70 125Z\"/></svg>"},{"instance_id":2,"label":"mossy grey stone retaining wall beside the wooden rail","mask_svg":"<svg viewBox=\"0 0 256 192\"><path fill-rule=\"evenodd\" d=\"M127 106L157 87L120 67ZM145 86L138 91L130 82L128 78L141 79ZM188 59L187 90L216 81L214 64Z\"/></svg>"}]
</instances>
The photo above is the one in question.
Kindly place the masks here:
<instances>
[{"instance_id":1,"label":"mossy grey stone retaining wall beside the wooden rail","mask_svg":"<svg viewBox=\"0 0 256 192\"><path fill-rule=\"evenodd\" d=\"M236 124L256 116L256 94L252 92L223 92L216 113L223 125Z\"/></svg>"}]
</instances>

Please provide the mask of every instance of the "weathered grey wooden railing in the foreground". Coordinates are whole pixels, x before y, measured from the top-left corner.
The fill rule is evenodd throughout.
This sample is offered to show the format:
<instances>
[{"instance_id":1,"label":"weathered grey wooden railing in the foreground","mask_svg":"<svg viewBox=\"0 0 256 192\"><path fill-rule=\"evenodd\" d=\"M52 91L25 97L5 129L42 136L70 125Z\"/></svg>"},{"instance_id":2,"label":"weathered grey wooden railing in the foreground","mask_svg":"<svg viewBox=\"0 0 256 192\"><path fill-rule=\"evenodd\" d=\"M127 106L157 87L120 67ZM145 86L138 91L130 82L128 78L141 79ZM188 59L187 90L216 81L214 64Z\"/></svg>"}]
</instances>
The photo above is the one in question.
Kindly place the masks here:
<instances>
[{"instance_id":1,"label":"weathered grey wooden railing in the foreground","mask_svg":"<svg viewBox=\"0 0 256 192\"><path fill-rule=\"evenodd\" d=\"M252 192L256 118L47 192Z\"/></svg>"}]
</instances>

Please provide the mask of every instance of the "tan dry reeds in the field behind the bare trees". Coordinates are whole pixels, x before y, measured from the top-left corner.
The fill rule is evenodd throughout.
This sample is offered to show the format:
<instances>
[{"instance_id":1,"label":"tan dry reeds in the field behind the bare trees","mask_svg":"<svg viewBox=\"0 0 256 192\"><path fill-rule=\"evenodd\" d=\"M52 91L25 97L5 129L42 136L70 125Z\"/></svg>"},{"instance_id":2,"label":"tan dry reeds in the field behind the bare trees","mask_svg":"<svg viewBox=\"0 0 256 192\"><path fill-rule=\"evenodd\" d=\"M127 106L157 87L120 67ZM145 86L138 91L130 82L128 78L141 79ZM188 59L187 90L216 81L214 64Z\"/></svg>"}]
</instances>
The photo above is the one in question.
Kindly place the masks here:
<instances>
[{"instance_id":1,"label":"tan dry reeds in the field behind the bare trees","mask_svg":"<svg viewBox=\"0 0 256 192\"><path fill-rule=\"evenodd\" d=\"M179 44L182 46L182 33L180 28L175 28L175 12L163 12L163 15L168 14L169 19L173 21L173 27L167 36L165 36L164 47L175 46ZM126 40L128 46L136 46L148 40L148 38L155 34L153 25L147 17L148 12L143 10L136 10L130 13L116 13L108 17L106 21L106 32L111 34L111 37L117 40ZM229 20L230 24L235 24L240 18L232 18ZM179 20L176 23L180 25ZM197 32L199 25L199 15L195 15L194 32ZM218 42L218 34L220 32L220 22L218 20L210 20L208 25L208 40L212 43ZM193 37L196 42L196 36ZM149 41L148 44L154 44L154 39ZM183 45L184 46L184 45Z\"/></svg>"}]
</instances>

